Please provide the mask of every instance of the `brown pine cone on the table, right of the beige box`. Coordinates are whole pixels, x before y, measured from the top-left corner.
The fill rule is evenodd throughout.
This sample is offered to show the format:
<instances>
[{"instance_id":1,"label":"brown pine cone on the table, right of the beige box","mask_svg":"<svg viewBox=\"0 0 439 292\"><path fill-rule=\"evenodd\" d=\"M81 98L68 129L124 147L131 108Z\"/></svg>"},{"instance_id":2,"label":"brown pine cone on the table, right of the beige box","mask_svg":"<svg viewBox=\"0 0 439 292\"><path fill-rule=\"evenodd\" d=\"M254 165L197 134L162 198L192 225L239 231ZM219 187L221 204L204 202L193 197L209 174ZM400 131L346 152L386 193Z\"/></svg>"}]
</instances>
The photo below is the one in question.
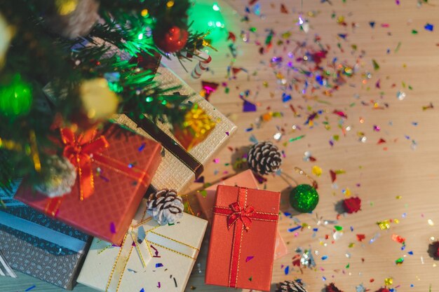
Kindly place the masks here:
<instances>
[{"instance_id":1,"label":"brown pine cone on the table, right of the beige box","mask_svg":"<svg viewBox=\"0 0 439 292\"><path fill-rule=\"evenodd\" d=\"M257 174L270 174L281 167L282 157L278 147L271 142L259 142L248 151L248 165Z\"/></svg>"}]
</instances>

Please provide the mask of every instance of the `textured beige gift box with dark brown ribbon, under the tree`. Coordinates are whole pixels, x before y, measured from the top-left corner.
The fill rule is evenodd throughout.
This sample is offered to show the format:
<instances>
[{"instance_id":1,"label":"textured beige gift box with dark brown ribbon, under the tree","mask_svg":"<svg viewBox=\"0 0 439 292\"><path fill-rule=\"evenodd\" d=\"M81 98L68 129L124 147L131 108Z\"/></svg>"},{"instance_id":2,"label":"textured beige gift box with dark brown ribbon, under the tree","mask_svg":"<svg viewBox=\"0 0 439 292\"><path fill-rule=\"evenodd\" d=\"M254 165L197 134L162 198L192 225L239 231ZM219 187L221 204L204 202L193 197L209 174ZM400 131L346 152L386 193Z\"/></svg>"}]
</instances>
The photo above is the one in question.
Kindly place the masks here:
<instances>
[{"instance_id":1,"label":"textured beige gift box with dark brown ribbon, under the tree","mask_svg":"<svg viewBox=\"0 0 439 292\"><path fill-rule=\"evenodd\" d=\"M172 188L177 192L182 192L189 183L198 179L198 176L203 172L204 165L211 161L215 153L219 151L229 140L229 137L236 131L236 125L226 118L222 113L219 113L212 104L206 101L203 97L196 94L192 88L184 83L178 76L176 76L170 69L158 67L156 74L161 84L175 87L181 85L178 90L181 95L188 95L189 102L196 105L196 110L204 111L210 119L215 122L215 126L205 128L203 137L196 137L197 143L190 145L191 141L189 130L176 132L180 136L179 141L175 134L171 132L170 126L165 123L158 123L158 129L154 124L149 123L146 118L142 120L130 120L125 115L118 116L115 120L117 123L126 125L144 137L155 139L163 145L163 160L154 175L151 186L156 189ZM190 117L189 117L190 118ZM187 130L187 131L184 131ZM202 139L201 139L202 138ZM189 143L188 143L189 141ZM195 142L195 141L194 141ZM189 150L185 149L185 146Z\"/></svg>"}]
</instances>

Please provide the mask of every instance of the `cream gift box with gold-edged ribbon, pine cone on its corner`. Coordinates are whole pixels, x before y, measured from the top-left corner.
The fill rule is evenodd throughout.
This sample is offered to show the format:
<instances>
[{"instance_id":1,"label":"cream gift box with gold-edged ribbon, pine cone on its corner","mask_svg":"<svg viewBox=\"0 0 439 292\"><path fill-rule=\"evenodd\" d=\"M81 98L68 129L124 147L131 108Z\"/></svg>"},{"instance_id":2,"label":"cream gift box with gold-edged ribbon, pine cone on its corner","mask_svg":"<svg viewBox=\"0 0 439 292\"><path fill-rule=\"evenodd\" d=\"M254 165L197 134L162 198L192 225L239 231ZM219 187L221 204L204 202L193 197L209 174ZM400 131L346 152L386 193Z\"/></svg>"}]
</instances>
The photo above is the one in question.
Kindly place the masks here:
<instances>
[{"instance_id":1,"label":"cream gift box with gold-edged ribbon, pine cone on its corner","mask_svg":"<svg viewBox=\"0 0 439 292\"><path fill-rule=\"evenodd\" d=\"M143 200L123 244L94 239L78 281L108 292L181 292L194 267L207 221L184 213L158 225Z\"/></svg>"}]
</instances>

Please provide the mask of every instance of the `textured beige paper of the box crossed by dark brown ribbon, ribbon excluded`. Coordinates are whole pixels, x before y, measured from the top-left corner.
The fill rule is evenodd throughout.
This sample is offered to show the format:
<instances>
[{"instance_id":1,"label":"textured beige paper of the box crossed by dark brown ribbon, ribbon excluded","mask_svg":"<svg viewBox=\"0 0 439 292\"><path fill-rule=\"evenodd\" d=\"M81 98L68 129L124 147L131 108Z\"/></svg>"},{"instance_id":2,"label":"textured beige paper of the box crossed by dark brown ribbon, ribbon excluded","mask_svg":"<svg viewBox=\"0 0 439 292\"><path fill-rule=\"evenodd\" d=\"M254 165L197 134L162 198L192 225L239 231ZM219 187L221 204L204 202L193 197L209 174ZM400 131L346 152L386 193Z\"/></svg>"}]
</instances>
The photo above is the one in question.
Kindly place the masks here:
<instances>
[{"instance_id":1,"label":"textured beige paper of the box crossed by dark brown ribbon, ribbon excluded","mask_svg":"<svg viewBox=\"0 0 439 292\"><path fill-rule=\"evenodd\" d=\"M184 81L176 76L173 71L164 67L163 64L158 68L155 78L166 87L181 85L181 88L177 91L180 92L181 95L189 95L189 101L198 104L198 106L208 113L210 118L217 123L212 132L210 132L203 142L188 151L190 155L198 160L198 162L201 162L201 165L205 165L212 160L217 151L219 151L229 140L229 137L234 134L236 131L236 125L234 125L234 123L222 113L217 111L207 100L198 95L198 93L189 87L187 83L184 83ZM136 123L125 115L116 117L116 123L126 125L130 129L135 130L137 134L152 139L151 135L147 134L147 132L140 127L137 127ZM169 125L158 124L158 127L163 130L163 132L166 132L168 136L173 138L173 140L177 141L170 132ZM180 161L167 149L164 149L163 159L152 179L151 185L157 189L170 188L177 190L177 192L182 192L184 188L195 179L194 172L184 165L184 162Z\"/></svg>"}]
</instances>

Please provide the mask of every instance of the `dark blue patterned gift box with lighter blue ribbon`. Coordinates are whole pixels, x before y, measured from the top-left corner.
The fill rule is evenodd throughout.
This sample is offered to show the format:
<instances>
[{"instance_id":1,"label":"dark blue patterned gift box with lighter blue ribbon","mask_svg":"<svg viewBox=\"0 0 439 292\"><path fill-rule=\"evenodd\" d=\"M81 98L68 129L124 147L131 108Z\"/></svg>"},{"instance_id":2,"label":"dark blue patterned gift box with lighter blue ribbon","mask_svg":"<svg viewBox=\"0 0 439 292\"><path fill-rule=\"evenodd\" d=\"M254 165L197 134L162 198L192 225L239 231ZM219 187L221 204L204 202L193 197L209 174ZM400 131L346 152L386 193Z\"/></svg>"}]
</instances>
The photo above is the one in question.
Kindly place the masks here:
<instances>
[{"instance_id":1,"label":"dark blue patterned gift box with lighter blue ribbon","mask_svg":"<svg viewBox=\"0 0 439 292\"><path fill-rule=\"evenodd\" d=\"M4 205L0 209L2 258L14 270L72 290L91 237L6 193L0 191L0 195Z\"/></svg>"}]
</instances>

